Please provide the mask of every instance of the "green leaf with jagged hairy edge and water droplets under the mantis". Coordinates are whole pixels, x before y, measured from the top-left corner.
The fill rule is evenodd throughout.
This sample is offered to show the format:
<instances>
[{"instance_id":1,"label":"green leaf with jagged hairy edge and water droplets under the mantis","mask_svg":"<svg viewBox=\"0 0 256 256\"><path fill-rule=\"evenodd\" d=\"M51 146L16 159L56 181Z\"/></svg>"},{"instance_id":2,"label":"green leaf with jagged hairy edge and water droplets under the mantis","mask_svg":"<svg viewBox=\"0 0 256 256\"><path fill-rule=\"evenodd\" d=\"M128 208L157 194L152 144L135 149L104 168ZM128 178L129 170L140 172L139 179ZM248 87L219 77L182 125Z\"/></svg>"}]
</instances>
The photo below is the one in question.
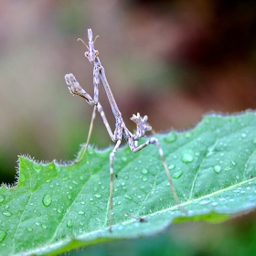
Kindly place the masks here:
<instances>
[{"instance_id":1,"label":"green leaf with jagged hairy edge and water droplets under the mantis","mask_svg":"<svg viewBox=\"0 0 256 256\"><path fill-rule=\"evenodd\" d=\"M23 156L17 186L0 187L1 255L53 255L148 236L172 222L219 222L256 207L255 112L208 115L193 130L157 138L187 213L175 204L155 145L135 154L125 146L116 154L112 233L112 148L90 148L75 165L38 164Z\"/></svg>"}]
</instances>

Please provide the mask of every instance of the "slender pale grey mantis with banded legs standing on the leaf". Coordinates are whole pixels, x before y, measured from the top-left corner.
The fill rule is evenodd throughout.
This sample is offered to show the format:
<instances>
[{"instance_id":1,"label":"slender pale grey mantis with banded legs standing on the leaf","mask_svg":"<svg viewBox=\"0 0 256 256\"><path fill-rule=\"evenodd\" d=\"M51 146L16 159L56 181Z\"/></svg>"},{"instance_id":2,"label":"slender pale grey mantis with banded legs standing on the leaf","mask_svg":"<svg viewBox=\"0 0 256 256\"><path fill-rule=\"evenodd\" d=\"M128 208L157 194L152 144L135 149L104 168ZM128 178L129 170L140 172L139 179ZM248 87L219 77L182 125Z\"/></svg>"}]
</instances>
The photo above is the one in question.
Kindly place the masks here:
<instances>
[{"instance_id":1,"label":"slender pale grey mantis with banded legs standing on the leaf","mask_svg":"<svg viewBox=\"0 0 256 256\"><path fill-rule=\"evenodd\" d=\"M74 77L73 74L67 74L65 76L65 80L66 80L66 83L68 84L69 91L71 92L71 94L78 95L78 96L84 98L91 106L93 106L90 131L88 134L86 147L85 147L83 154L81 155L80 160L77 162L80 162L86 153L86 150L87 150L87 147L88 147L88 144L90 141L90 137L91 137L91 131L92 131L95 115L96 115L96 110L101 114L103 123L105 124L105 127L106 127L112 141L115 143L115 145L112 149L112 153L110 154L110 197L109 197L109 200L110 200L110 226L109 226L109 229L110 229L110 231L112 231L112 208L113 208L112 199L113 199L113 176L114 176L113 163L114 163L116 151L121 145L122 138L124 138L126 140L126 143L129 145L130 149L133 152L137 152L149 144L155 144L157 146L159 155L161 156L162 163L165 168L165 173L166 173L168 182L170 184L170 187L171 187L171 190L175 197L177 205L179 205L179 199L177 197L176 188L173 184L172 177L170 175L170 172L168 170L168 167L167 167L167 164L165 161L165 155L164 155L163 149L162 149L161 145L159 144L158 139L155 137L151 137L144 144L140 144L140 145L138 144L138 140L144 136L144 133L152 130L152 127L148 123L146 123L147 116L145 115L144 117L142 117L142 116L140 116L139 113L137 113L137 115L133 114L133 117L131 118L131 120L134 123L136 123L136 126L137 126L136 133L133 134L128 130L125 123L123 122L122 113L119 111L116 101L114 100L111 87L106 78L105 70L104 70L103 66L101 65L101 60L98 57L99 51L94 48L94 42L92 40L91 28L88 29L88 39L89 39L89 47L87 46L88 51L85 52L85 57L87 59L89 59L89 61L91 63L94 64L94 68L93 68L94 97L93 97L93 99L86 91L84 91L80 87L79 82L76 80L76 78ZM106 91L106 94L108 96L108 99L110 101L110 104L112 107L112 113L115 118L115 129L114 129L113 133L112 133L110 125L106 119L106 116L103 112L101 103L99 102L100 80L102 82L102 85L103 85L103 87Z\"/></svg>"}]
</instances>

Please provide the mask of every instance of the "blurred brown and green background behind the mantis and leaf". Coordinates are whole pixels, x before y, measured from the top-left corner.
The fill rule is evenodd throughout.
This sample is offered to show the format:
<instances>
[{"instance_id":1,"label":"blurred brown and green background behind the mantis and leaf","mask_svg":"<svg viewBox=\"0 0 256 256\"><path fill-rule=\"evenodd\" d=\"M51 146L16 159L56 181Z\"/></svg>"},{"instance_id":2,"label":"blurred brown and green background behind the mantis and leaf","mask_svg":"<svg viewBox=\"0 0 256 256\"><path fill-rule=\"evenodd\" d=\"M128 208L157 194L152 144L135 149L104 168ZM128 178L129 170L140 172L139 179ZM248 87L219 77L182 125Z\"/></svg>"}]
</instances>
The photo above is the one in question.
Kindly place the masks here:
<instances>
[{"instance_id":1,"label":"blurred brown and green background behind the mantis and leaf","mask_svg":"<svg viewBox=\"0 0 256 256\"><path fill-rule=\"evenodd\" d=\"M95 48L132 130L129 118L136 112L165 132L192 128L208 112L256 108L256 1L2 0L0 184L13 184L17 155L71 160L85 143L92 108L71 97L64 75L74 73L93 95L93 66L77 41L87 41L89 27L100 36ZM100 101L114 127L103 88ZM91 144L112 144L100 117ZM166 246L162 255L205 255L211 248L229 255L240 248L244 255L256 251L254 218L251 213L221 225L173 225L154 238L86 250L118 255L116 246L132 246L139 255Z\"/></svg>"}]
</instances>

